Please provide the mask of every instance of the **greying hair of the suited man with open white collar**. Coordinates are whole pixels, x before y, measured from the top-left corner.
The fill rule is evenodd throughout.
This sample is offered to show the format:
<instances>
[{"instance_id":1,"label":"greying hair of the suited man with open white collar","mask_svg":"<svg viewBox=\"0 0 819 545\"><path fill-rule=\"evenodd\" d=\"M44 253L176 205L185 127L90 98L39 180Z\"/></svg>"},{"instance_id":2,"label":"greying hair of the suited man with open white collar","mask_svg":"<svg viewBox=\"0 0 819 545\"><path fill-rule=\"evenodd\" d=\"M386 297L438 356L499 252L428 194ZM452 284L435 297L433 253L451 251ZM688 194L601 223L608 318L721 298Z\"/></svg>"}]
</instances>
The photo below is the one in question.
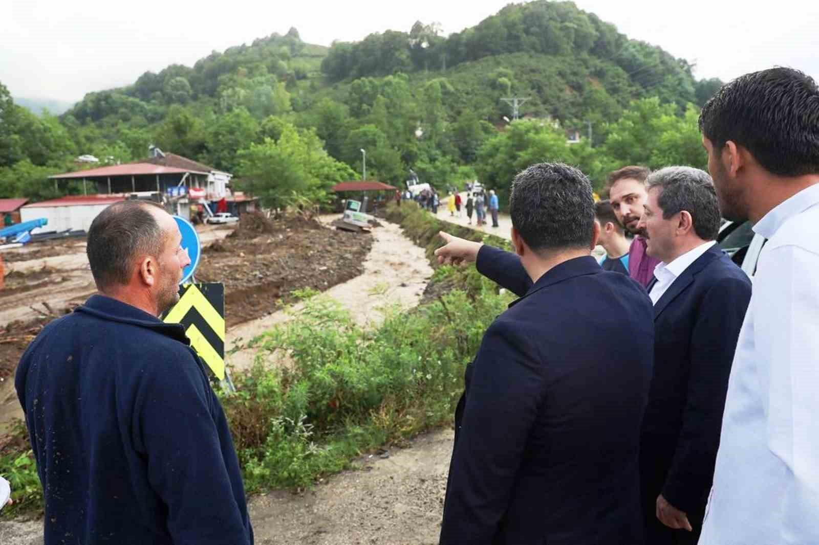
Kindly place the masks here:
<instances>
[{"instance_id":1,"label":"greying hair of the suited man with open white collar","mask_svg":"<svg viewBox=\"0 0 819 545\"><path fill-rule=\"evenodd\" d=\"M704 241L713 241L719 233L720 213L717 191L707 172L693 167L672 166L652 173L649 190L660 188L657 204L663 218L686 210L691 214L694 232Z\"/></svg>"}]
</instances>

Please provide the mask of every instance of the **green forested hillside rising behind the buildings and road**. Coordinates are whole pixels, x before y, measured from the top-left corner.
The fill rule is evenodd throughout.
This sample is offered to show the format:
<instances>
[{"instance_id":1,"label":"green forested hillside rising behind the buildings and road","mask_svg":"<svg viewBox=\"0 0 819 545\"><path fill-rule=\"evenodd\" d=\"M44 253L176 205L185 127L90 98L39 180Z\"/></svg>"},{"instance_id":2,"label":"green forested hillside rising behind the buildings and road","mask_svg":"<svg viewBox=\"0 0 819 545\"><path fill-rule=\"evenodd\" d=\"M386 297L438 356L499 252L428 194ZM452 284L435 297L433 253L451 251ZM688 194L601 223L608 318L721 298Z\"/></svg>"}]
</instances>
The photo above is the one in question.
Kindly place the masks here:
<instances>
[{"instance_id":1,"label":"green forested hillside rising behind the buildings and road","mask_svg":"<svg viewBox=\"0 0 819 545\"><path fill-rule=\"evenodd\" d=\"M362 148L385 182L412 168L438 187L505 187L563 160L599 185L622 163L703 166L697 109L721 82L691 70L572 2L509 5L447 37L416 22L328 48L291 29L88 93L59 118L0 84L0 196L50 196L43 179L75 156L126 162L150 144L237 174L269 205L360 178ZM523 119L509 97L527 99Z\"/></svg>"}]
</instances>

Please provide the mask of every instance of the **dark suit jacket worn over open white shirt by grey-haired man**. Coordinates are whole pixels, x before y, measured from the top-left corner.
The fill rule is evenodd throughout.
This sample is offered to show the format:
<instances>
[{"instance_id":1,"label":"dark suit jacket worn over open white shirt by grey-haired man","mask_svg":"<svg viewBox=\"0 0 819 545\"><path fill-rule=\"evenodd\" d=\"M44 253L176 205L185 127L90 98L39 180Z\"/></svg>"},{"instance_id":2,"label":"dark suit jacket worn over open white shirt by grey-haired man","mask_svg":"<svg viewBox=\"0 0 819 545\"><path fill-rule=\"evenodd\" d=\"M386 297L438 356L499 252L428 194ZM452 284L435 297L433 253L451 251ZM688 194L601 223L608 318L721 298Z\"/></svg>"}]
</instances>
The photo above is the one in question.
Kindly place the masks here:
<instances>
[{"instance_id":1,"label":"dark suit jacket worn over open white shirt by grey-haired man","mask_svg":"<svg viewBox=\"0 0 819 545\"><path fill-rule=\"evenodd\" d=\"M713 245L654 305L654 377L640 445L646 511L662 493L692 524L702 520L750 298L749 278Z\"/></svg>"}]
</instances>

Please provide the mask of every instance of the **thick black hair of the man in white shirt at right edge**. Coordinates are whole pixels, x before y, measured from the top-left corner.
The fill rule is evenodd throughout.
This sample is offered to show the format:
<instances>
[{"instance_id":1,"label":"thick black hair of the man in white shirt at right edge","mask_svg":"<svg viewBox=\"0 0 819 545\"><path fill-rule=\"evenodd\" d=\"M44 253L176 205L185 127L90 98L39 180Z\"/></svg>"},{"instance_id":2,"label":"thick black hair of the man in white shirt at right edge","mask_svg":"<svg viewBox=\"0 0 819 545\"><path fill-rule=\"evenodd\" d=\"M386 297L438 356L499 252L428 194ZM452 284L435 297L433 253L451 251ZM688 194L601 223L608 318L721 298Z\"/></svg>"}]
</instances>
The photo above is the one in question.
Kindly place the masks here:
<instances>
[{"instance_id":1,"label":"thick black hair of the man in white shirt at right edge","mask_svg":"<svg viewBox=\"0 0 819 545\"><path fill-rule=\"evenodd\" d=\"M699 114L699 130L722 151L729 140L779 176L819 173L819 88L791 68L726 83Z\"/></svg>"}]
</instances>

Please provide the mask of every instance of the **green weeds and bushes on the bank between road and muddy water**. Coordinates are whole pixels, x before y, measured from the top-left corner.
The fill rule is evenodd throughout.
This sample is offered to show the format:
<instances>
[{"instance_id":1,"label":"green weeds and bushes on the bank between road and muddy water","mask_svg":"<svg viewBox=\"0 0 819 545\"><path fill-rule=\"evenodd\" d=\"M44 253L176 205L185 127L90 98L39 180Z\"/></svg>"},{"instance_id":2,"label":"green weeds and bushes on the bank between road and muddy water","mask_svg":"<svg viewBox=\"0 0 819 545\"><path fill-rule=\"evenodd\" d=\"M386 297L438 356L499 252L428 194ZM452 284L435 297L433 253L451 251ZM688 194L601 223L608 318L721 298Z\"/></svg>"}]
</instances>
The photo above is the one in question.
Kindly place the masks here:
<instances>
[{"instance_id":1,"label":"green weeds and bushes on the bank between road and muddy water","mask_svg":"<svg viewBox=\"0 0 819 545\"><path fill-rule=\"evenodd\" d=\"M389 205L388 215L430 254L441 245L445 224L430 214ZM238 394L222 399L249 493L310 486L362 453L451 421L465 365L510 299L474 267L438 268L441 282L446 295L409 313L385 305L375 328L307 291L291 321L256 339L257 358L274 365L235 377Z\"/></svg>"}]
</instances>

